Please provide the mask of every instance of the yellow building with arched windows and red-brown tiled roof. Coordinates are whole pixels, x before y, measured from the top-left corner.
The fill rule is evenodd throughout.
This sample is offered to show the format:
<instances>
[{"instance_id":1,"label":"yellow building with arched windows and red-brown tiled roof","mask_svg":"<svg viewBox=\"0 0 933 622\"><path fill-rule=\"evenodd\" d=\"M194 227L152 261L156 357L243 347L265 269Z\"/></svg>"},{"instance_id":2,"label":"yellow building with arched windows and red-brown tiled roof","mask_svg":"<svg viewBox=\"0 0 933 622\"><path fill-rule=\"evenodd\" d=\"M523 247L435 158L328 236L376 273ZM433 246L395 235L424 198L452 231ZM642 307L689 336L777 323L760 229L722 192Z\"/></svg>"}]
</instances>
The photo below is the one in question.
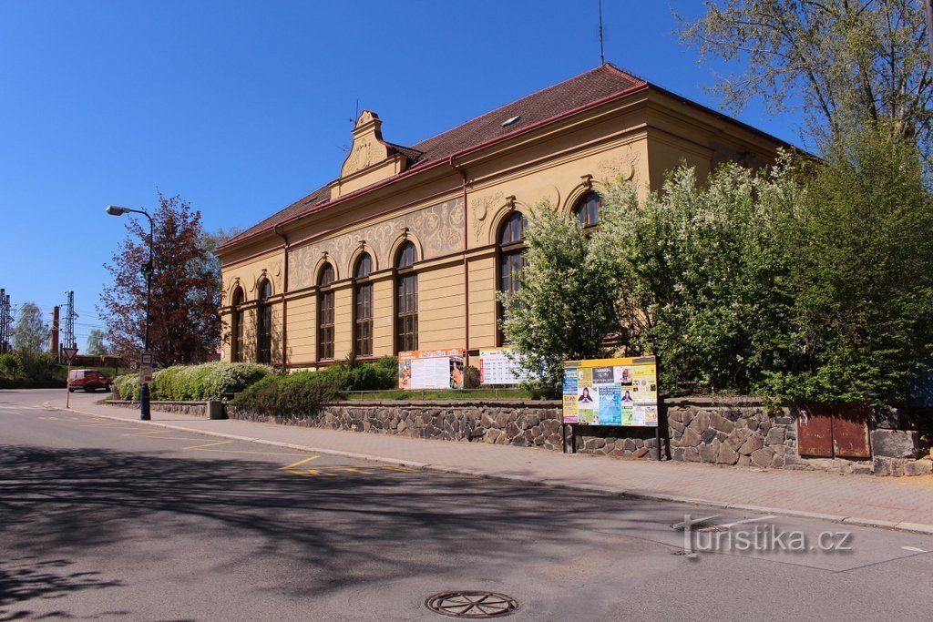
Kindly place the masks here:
<instances>
[{"instance_id":1,"label":"yellow building with arched windows and red-brown tiled roof","mask_svg":"<svg viewBox=\"0 0 933 622\"><path fill-rule=\"evenodd\" d=\"M224 358L310 368L354 352L502 344L495 293L541 200L599 219L602 180L641 192L681 160L759 166L787 146L610 64L412 146L364 111L340 175L217 251Z\"/></svg>"}]
</instances>

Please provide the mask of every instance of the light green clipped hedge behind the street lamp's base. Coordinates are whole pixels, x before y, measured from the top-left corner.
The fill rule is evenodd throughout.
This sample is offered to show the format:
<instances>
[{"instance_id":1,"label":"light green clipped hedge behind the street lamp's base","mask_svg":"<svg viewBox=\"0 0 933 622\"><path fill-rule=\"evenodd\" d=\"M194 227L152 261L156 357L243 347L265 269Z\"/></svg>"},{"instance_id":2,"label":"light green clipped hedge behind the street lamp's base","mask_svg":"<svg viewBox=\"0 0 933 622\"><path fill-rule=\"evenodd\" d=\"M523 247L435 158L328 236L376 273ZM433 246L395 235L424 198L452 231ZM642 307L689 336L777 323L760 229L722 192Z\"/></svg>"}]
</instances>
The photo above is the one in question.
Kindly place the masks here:
<instances>
[{"instance_id":1,"label":"light green clipped hedge behind the street lamp's base","mask_svg":"<svg viewBox=\"0 0 933 622\"><path fill-rule=\"evenodd\" d=\"M271 376L270 366L255 363L205 363L193 366L172 366L160 369L152 376L150 398L172 402L204 402L235 394L249 385ZM119 399L139 399L139 375L126 374L114 379Z\"/></svg>"}]
</instances>

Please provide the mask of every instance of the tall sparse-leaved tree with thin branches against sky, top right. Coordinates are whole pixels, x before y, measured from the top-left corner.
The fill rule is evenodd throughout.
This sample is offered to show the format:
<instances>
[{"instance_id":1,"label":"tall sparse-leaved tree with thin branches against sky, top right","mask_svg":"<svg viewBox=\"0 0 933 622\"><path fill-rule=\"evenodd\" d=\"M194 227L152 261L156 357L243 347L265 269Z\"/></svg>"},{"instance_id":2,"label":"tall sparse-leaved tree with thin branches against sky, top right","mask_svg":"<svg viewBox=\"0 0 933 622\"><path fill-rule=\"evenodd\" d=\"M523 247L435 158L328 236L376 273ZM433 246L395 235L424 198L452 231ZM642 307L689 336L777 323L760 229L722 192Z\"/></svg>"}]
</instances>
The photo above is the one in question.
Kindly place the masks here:
<instances>
[{"instance_id":1,"label":"tall sparse-leaved tree with thin branches against sky, top right","mask_svg":"<svg viewBox=\"0 0 933 622\"><path fill-rule=\"evenodd\" d=\"M715 90L733 109L760 98L801 107L819 146L874 127L929 153L933 78L926 16L916 0L724 0L684 25L702 58L742 67Z\"/></svg>"}]
</instances>

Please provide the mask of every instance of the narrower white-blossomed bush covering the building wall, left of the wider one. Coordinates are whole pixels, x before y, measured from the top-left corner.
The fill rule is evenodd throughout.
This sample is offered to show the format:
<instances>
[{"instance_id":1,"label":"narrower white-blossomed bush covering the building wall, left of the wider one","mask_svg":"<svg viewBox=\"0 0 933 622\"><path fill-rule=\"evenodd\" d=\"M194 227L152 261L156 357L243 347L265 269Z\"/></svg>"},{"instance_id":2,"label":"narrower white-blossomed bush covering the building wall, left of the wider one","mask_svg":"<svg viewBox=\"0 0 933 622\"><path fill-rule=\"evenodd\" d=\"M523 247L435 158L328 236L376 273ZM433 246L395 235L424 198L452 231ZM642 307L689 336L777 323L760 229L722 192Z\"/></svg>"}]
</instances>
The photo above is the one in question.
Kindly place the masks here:
<instances>
[{"instance_id":1,"label":"narrower white-blossomed bush covering the building wall, left of the wider one","mask_svg":"<svg viewBox=\"0 0 933 622\"><path fill-rule=\"evenodd\" d=\"M522 366L560 386L564 360L600 358L618 326L617 285L606 248L591 242L578 220L547 203L536 206L525 228L525 260L512 296L500 295L503 332Z\"/></svg>"}]
</instances>

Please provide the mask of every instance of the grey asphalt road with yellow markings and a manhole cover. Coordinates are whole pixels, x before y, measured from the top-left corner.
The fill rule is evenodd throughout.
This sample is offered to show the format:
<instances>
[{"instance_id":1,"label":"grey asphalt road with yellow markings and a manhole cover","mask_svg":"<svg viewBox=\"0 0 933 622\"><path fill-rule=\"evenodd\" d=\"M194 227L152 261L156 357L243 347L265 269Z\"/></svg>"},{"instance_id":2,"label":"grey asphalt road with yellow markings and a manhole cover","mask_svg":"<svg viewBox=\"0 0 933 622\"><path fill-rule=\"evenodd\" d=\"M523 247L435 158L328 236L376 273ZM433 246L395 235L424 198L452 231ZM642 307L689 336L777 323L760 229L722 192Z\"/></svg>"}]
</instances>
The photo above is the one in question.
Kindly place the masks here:
<instances>
[{"instance_id":1,"label":"grey asphalt road with yellow markings and a manhole cover","mask_svg":"<svg viewBox=\"0 0 933 622\"><path fill-rule=\"evenodd\" d=\"M512 597L515 620L933 611L930 536L361 463L48 395L0 391L0 620L443 620L425 600L457 590Z\"/></svg>"}]
</instances>

